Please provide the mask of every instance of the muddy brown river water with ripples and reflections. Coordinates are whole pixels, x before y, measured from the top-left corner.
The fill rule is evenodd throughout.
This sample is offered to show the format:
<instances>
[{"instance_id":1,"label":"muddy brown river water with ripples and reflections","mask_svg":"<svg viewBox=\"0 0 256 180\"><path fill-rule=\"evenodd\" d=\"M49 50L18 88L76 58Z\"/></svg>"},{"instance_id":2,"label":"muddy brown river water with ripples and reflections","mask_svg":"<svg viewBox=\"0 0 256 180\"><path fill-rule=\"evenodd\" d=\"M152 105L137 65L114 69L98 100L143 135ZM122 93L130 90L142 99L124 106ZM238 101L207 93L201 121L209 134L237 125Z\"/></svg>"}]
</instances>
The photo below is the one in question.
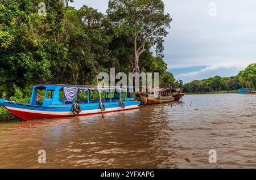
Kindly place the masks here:
<instances>
[{"instance_id":1,"label":"muddy brown river water with ripples and reflections","mask_svg":"<svg viewBox=\"0 0 256 180\"><path fill-rule=\"evenodd\" d=\"M256 168L256 96L186 95L182 107L152 105L105 119L0 123L0 168Z\"/></svg>"}]
</instances>

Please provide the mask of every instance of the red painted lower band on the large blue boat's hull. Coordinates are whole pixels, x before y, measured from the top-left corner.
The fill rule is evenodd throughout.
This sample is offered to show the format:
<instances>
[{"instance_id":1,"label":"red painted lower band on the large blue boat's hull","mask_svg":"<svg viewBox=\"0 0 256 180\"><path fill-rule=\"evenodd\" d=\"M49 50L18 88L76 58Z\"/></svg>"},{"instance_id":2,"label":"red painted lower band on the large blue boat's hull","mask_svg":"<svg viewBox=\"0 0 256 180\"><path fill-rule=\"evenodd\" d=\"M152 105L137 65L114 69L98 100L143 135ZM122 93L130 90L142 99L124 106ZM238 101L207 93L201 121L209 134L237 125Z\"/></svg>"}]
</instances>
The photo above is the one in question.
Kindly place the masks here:
<instances>
[{"instance_id":1,"label":"red painted lower band on the large blue boat's hull","mask_svg":"<svg viewBox=\"0 0 256 180\"><path fill-rule=\"evenodd\" d=\"M138 106L138 108L139 108L139 106ZM138 109L138 108L113 110L113 111L104 112L104 113L119 112L119 111L123 111L123 110L132 110L132 109ZM23 119L24 121L28 121L28 120L32 120L32 119L75 117L75 116L83 116L83 115L91 115L91 114L100 114L101 113L101 112L99 112L99 113L88 113L88 114L77 114L77 115L54 115L54 114L29 113L29 112L22 112L22 111L11 110L11 109L7 109L7 110L9 110L9 112L13 113L17 117Z\"/></svg>"}]
</instances>

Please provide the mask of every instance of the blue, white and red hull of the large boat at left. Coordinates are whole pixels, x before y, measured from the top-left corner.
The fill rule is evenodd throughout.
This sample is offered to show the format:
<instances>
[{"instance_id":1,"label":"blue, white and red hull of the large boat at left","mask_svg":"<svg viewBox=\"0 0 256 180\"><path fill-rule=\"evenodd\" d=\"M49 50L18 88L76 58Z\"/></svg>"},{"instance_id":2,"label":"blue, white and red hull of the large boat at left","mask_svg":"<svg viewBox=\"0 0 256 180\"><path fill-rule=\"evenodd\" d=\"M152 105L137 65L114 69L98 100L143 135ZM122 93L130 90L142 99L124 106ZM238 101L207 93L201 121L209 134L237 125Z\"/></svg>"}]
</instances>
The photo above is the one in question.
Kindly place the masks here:
<instances>
[{"instance_id":1,"label":"blue, white and red hull of the large boat at left","mask_svg":"<svg viewBox=\"0 0 256 180\"><path fill-rule=\"evenodd\" d=\"M104 113L118 112L122 110L131 110L139 108L140 101L127 101L125 108L119 106L119 102L109 102L105 104L106 109ZM18 104L14 102L5 102L3 106L13 113L17 117L24 121L32 119L45 119L45 118L63 118L63 117L74 117L90 114L101 113L99 104L80 104L82 111L81 113L74 115L72 113L72 105L52 105L50 107L34 106L26 104Z\"/></svg>"}]
</instances>

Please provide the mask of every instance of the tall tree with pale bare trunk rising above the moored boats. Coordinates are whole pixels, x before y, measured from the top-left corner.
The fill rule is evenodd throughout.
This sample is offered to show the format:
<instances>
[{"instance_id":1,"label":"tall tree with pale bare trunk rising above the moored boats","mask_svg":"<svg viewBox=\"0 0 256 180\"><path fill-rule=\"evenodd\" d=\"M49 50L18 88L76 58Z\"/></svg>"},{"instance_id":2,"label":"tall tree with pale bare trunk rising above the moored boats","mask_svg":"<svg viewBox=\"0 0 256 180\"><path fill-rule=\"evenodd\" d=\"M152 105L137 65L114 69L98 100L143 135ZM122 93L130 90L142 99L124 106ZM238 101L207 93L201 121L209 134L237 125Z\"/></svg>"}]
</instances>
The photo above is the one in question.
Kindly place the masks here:
<instances>
[{"instance_id":1,"label":"tall tree with pale bare trunk rising above the moored boats","mask_svg":"<svg viewBox=\"0 0 256 180\"><path fill-rule=\"evenodd\" d=\"M107 10L112 20L116 35L129 35L133 42L134 72L141 72L139 57L148 46L156 46L156 55L163 56L163 37L170 28L172 19L164 13L161 0L110 0Z\"/></svg>"}]
</instances>

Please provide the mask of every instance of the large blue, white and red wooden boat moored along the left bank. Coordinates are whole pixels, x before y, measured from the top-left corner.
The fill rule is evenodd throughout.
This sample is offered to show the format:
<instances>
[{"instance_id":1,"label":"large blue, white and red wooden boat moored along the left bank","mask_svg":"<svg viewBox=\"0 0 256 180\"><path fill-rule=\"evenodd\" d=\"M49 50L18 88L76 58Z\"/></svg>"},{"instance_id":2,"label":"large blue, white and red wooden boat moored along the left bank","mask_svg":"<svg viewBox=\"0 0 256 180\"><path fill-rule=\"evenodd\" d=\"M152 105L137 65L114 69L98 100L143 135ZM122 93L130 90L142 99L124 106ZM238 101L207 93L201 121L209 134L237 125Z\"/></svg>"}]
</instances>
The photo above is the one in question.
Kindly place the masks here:
<instances>
[{"instance_id":1,"label":"large blue, white and red wooden boat moored along the left bank","mask_svg":"<svg viewBox=\"0 0 256 180\"><path fill-rule=\"evenodd\" d=\"M30 104L3 101L3 106L11 113L24 121L31 119L73 117L77 115L89 115L117 112L139 108L141 101L134 99L134 92L125 93L121 100L121 91L115 91L115 87L109 87L109 92L103 92L106 88L88 85L64 85L64 84L39 84L33 86ZM100 91L100 100L93 100L93 91ZM40 93L41 92L41 93ZM43 92L43 93L42 93ZM82 96L82 93L84 96ZM93 94L93 95L92 95ZM41 97L40 97L41 96Z\"/></svg>"}]
</instances>

